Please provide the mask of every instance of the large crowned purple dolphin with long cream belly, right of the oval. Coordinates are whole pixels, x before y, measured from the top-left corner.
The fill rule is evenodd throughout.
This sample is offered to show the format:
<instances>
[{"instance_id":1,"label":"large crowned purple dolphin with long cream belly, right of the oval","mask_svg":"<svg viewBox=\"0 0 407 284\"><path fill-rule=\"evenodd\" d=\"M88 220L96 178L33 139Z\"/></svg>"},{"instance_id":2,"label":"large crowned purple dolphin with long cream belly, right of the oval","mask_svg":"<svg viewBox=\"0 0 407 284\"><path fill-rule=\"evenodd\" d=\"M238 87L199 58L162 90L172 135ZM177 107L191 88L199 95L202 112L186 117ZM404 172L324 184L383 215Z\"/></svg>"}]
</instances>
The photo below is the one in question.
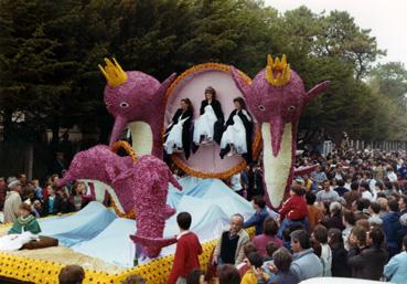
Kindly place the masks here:
<instances>
[{"instance_id":1,"label":"large crowned purple dolphin with long cream belly, right of the oval","mask_svg":"<svg viewBox=\"0 0 407 284\"><path fill-rule=\"evenodd\" d=\"M302 108L329 86L323 82L306 92L301 77L290 69L286 56L275 61L269 56L266 69L251 85L231 66L237 87L260 125L264 140L264 180L270 204L278 208L293 177L298 123Z\"/></svg>"}]
</instances>

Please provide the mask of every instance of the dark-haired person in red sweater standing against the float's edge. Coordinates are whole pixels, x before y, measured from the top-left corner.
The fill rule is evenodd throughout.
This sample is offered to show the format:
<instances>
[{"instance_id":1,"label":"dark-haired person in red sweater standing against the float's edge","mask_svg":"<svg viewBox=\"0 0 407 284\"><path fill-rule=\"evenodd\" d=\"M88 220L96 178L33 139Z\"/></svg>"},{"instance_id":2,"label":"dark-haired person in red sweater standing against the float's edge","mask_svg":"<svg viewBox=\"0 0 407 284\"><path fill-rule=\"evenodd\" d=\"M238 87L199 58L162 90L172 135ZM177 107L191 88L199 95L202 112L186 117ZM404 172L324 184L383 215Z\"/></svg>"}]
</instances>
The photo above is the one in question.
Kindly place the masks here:
<instances>
[{"instance_id":1,"label":"dark-haired person in red sweater standing against the float's edge","mask_svg":"<svg viewBox=\"0 0 407 284\"><path fill-rule=\"evenodd\" d=\"M176 236L174 264L167 284L186 284L186 276L190 272L200 269L197 256L202 253L202 246L196 234L189 231L191 222L192 218L188 212L181 212L176 215L180 234Z\"/></svg>"}]
</instances>

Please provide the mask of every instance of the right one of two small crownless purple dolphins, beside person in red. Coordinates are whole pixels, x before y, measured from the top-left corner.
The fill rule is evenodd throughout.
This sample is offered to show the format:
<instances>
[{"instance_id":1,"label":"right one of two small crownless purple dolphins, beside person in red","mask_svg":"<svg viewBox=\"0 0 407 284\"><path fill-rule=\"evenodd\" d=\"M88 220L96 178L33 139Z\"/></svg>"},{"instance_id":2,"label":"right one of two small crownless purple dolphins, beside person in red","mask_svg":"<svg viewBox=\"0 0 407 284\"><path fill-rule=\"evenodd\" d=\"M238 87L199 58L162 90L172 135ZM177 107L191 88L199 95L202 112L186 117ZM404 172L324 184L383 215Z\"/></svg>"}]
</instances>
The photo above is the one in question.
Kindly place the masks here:
<instances>
[{"instance_id":1,"label":"right one of two small crownless purple dolphins, beside person in red","mask_svg":"<svg viewBox=\"0 0 407 284\"><path fill-rule=\"evenodd\" d=\"M141 156L136 167L119 175L115 182L115 188L132 187L137 234L131 235L131 239L141 244L143 253L149 257L158 256L161 248L176 242L175 238L162 238L165 220L175 213L167 204L169 182L181 189L165 162L148 155Z\"/></svg>"}]
</instances>

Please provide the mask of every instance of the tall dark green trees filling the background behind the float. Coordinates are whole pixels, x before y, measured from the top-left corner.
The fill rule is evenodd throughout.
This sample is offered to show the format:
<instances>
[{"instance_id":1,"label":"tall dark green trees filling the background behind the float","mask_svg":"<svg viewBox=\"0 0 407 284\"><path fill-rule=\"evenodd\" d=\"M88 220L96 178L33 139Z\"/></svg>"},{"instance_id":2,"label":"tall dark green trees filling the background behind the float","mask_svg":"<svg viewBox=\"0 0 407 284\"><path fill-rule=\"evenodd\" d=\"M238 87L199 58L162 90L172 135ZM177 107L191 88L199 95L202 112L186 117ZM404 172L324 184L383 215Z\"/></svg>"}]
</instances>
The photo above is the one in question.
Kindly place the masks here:
<instances>
[{"instance_id":1,"label":"tall dark green trees filling the background behind the float","mask_svg":"<svg viewBox=\"0 0 407 284\"><path fill-rule=\"evenodd\" d=\"M164 80L204 62L254 76L266 55L287 54L307 88L332 86L306 109L302 129L346 130L352 138L407 139L407 72L372 64L385 52L343 11L307 7L279 14L256 0L0 0L0 112L7 139L40 139L77 124L100 129L97 64L116 56L125 70ZM25 114L24 124L11 114ZM404 128L400 128L404 126Z\"/></svg>"}]
</instances>

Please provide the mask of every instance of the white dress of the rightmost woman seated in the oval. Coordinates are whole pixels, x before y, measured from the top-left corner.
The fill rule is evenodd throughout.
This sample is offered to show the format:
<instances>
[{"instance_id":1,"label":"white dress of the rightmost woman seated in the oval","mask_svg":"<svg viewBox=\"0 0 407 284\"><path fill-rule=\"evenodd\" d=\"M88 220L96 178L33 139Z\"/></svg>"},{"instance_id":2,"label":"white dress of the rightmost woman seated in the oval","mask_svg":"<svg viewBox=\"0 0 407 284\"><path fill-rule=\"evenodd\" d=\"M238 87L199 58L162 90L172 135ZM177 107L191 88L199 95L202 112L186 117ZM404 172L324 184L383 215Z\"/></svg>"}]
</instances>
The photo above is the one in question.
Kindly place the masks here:
<instances>
[{"instance_id":1,"label":"white dress of the rightmost woman seated in the oval","mask_svg":"<svg viewBox=\"0 0 407 284\"><path fill-rule=\"evenodd\" d=\"M246 117L250 119L247 115L246 111L242 111ZM221 140L221 149L226 148L228 144L232 144L237 154L246 154L247 152L247 143L246 143L246 128L243 124L242 118L236 114L233 117L233 125L227 126L226 130L223 133Z\"/></svg>"}]
</instances>

